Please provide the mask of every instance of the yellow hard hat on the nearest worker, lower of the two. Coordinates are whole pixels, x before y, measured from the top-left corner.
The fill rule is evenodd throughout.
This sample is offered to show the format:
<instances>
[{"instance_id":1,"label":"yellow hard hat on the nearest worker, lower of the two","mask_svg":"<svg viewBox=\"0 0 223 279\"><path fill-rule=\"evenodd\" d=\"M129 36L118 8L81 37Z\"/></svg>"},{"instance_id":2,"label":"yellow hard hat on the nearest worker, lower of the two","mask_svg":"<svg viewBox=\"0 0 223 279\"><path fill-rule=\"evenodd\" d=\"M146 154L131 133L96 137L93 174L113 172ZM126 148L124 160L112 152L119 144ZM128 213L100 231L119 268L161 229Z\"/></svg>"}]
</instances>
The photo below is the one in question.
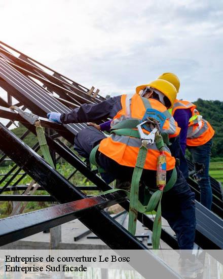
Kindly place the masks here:
<instances>
[{"instance_id":1,"label":"yellow hard hat on the nearest worker, lower of the two","mask_svg":"<svg viewBox=\"0 0 223 279\"><path fill-rule=\"evenodd\" d=\"M161 93L163 93L170 101L171 103L171 107L173 107L173 103L176 99L176 88L173 86L172 83L166 81L166 80L155 80L152 81L148 84L143 84L140 86L136 87L136 93L139 94L139 92L143 89L145 89L146 87L152 87L154 89L159 90Z\"/></svg>"}]
</instances>

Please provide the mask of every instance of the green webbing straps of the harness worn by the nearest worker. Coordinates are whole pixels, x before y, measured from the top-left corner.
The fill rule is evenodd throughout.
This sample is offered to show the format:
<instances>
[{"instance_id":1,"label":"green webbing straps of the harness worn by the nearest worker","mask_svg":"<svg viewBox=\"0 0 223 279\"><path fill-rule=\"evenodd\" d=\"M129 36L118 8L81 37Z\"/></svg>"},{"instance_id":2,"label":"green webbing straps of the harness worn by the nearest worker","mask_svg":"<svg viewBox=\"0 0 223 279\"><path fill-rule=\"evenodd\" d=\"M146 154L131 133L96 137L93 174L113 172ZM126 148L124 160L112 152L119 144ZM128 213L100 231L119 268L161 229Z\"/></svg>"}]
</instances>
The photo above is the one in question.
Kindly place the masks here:
<instances>
[{"instance_id":1,"label":"green webbing straps of the harness worn by the nearest worker","mask_svg":"<svg viewBox=\"0 0 223 279\"><path fill-rule=\"evenodd\" d=\"M128 125L128 127L131 127L131 124L133 124L133 125L135 124L135 123L131 123L131 121L132 120L129 121L128 124L130 124L130 125ZM123 121L123 122L126 122L126 121ZM117 128L117 125L116 125L116 128ZM120 125L120 129L112 130L111 133L115 133L117 135L126 135L126 136L133 136L133 137L139 138L139 133L137 130L132 130L132 128L123 128L123 125L122 125L122 127ZM159 135L156 137L156 144L157 144L158 149L162 150L164 148L164 142L163 142L162 136ZM99 147L99 145L94 147L90 154L90 162L96 166L98 166L98 164L96 162L96 152L98 150L98 147ZM161 229L162 229L161 198L162 198L163 192L166 192L173 187L173 185L176 182L177 174L176 174L176 169L174 168L172 171L171 178L169 179L169 181L166 184L166 186L164 187L164 189L156 190L153 193L153 195L151 196L147 205L146 206L142 205L138 199L139 183L140 183L146 155L147 155L147 148L145 146L141 145L141 147L139 148L136 165L135 165L133 175L132 175L130 193L123 189L112 189L112 190L103 192L103 194L112 193L115 191L124 191L127 194L129 201L130 201L128 230L133 235L135 235L135 231L136 231L137 212L140 212L140 213L152 212L156 209L156 207L158 205L156 217L154 220L154 226L153 226L152 242L153 242L153 249L159 249Z\"/></svg>"}]
</instances>

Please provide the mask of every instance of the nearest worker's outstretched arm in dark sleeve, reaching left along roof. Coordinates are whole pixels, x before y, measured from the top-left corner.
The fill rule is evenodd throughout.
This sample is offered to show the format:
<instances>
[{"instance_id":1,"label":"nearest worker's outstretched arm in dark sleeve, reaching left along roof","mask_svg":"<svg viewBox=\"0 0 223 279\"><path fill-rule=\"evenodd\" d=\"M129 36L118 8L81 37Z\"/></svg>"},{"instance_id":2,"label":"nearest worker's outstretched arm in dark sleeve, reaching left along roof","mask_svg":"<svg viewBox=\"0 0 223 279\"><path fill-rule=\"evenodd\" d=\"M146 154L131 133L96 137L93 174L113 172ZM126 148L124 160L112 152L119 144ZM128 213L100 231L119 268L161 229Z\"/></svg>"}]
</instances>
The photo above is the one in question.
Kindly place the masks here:
<instances>
[{"instance_id":1,"label":"nearest worker's outstretched arm in dark sleeve, reaching left along roof","mask_svg":"<svg viewBox=\"0 0 223 279\"><path fill-rule=\"evenodd\" d=\"M70 113L62 113L59 120L64 124L98 121L107 117L113 118L121 109L121 96L116 96L98 104L84 103Z\"/></svg>"}]
</instances>

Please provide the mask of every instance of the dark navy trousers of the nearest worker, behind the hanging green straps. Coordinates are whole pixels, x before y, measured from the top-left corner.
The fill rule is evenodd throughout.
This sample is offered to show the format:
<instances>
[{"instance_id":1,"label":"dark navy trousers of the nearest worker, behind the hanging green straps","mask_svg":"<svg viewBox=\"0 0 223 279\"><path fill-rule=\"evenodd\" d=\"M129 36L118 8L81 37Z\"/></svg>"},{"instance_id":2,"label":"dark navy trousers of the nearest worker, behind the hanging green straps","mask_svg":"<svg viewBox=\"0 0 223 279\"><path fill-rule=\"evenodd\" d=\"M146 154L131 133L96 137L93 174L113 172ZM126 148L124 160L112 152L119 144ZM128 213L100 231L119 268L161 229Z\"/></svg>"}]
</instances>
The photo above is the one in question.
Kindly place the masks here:
<instances>
[{"instance_id":1,"label":"dark navy trousers of the nearest worker, behind the hanging green straps","mask_svg":"<svg viewBox=\"0 0 223 279\"><path fill-rule=\"evenodd\" d=\"M91 150L105 138L104 134L94 128L81 130L75 137L75 150L89 158ZM105 170L107 183L119 179L131 181L133 168L119 165L114 160L102 153L97 153L97 162ZM193 249L195 238L195 195L177 169L177 181L173 188L162 197L162 216L168 221L170 227L176 233L179 249ZM171 172L167 173L167 180ZM143 170L141 180L143 184L152 188L156 187L156 171Z\"/></svg>"}]
</instances>

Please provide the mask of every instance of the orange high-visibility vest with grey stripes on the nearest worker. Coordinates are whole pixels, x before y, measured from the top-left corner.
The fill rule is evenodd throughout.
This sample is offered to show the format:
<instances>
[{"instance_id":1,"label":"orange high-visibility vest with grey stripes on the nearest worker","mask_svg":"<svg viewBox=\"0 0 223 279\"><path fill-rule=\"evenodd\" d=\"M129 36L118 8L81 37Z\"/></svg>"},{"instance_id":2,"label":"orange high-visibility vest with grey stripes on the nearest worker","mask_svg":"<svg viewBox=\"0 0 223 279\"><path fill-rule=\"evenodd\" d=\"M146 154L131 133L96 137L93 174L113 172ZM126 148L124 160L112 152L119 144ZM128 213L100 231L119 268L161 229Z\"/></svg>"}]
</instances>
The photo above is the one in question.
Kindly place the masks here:
<instances>
[{"instance_id":1,"label":"orange high-visibility vest with grey stripes on the nearest worker","mask_svg":"<svg viewBox=\"0 0 223 279\"><path fill-rule=\"evenodd\" d=\"M169 137L175 137L179 134L180 128L176 121L168 112L166 107L156 99L147 99L140 97L138 94L122 95L122 109L114 117L111 128L121 121L127 119L142 120L146 109L155 109L166 116L161 132L166 132ZM146 130L144 130L145 132ZM149 133L148 131L146 131ZM107 157L115 160L120 165L135 167L139 148L142 142L140 138L111 134L104 138L99 145L98 150ZM175 167L175 158L171 156L171 152L165 146L165 154L167 159L167 170ZM160 155L156 143L148 146L147 156L144 164L145 169L157 170L157 159Z\"/></svg>"}]
</instances>

